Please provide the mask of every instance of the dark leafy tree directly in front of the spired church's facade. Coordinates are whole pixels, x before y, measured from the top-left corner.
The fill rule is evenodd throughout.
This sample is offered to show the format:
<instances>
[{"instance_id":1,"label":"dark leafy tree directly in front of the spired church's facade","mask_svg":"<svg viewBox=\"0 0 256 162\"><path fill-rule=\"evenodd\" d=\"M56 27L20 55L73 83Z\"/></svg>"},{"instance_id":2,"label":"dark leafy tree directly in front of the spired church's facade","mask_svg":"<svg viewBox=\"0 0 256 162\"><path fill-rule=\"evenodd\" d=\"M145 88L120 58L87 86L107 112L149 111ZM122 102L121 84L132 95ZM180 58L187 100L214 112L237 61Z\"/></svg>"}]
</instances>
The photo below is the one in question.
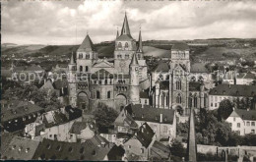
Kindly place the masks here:
<instances>
[{"instance_id":1,"label":"dark leafy tree directly in front of the spired church's facade","mask_svg":"<svg viewBox=\"0 0 256 162\"><path fill-rule=\"evenodd\" d=\"M99 132L110 128L118 116L117 111L102 103L98 103L93 114L95 115L96 126L98 127Z\"/></svg>"}]
</instances>

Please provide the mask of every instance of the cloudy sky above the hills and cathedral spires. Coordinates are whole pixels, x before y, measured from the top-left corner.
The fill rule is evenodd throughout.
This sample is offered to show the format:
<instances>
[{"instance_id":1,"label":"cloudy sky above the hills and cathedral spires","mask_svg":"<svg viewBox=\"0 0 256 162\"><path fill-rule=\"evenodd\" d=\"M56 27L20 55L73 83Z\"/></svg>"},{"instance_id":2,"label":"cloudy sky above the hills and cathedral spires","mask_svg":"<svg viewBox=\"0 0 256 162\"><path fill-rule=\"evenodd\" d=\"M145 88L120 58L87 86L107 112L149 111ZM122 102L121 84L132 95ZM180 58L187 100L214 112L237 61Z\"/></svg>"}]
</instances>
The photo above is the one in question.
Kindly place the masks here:
<instances>
[{"instance_id":1,"label":"cloudy sky above the hills and cathedral spires","mask_svg":"<svg viewBox=\"0 0 256 162\"><path fill-rule=\"evenodd\" d=\"M2 43L80 44L113 40L127 12L134 38L256 38L256 1L60 0L2 3Z\"/></svg>"}]
</instances>

